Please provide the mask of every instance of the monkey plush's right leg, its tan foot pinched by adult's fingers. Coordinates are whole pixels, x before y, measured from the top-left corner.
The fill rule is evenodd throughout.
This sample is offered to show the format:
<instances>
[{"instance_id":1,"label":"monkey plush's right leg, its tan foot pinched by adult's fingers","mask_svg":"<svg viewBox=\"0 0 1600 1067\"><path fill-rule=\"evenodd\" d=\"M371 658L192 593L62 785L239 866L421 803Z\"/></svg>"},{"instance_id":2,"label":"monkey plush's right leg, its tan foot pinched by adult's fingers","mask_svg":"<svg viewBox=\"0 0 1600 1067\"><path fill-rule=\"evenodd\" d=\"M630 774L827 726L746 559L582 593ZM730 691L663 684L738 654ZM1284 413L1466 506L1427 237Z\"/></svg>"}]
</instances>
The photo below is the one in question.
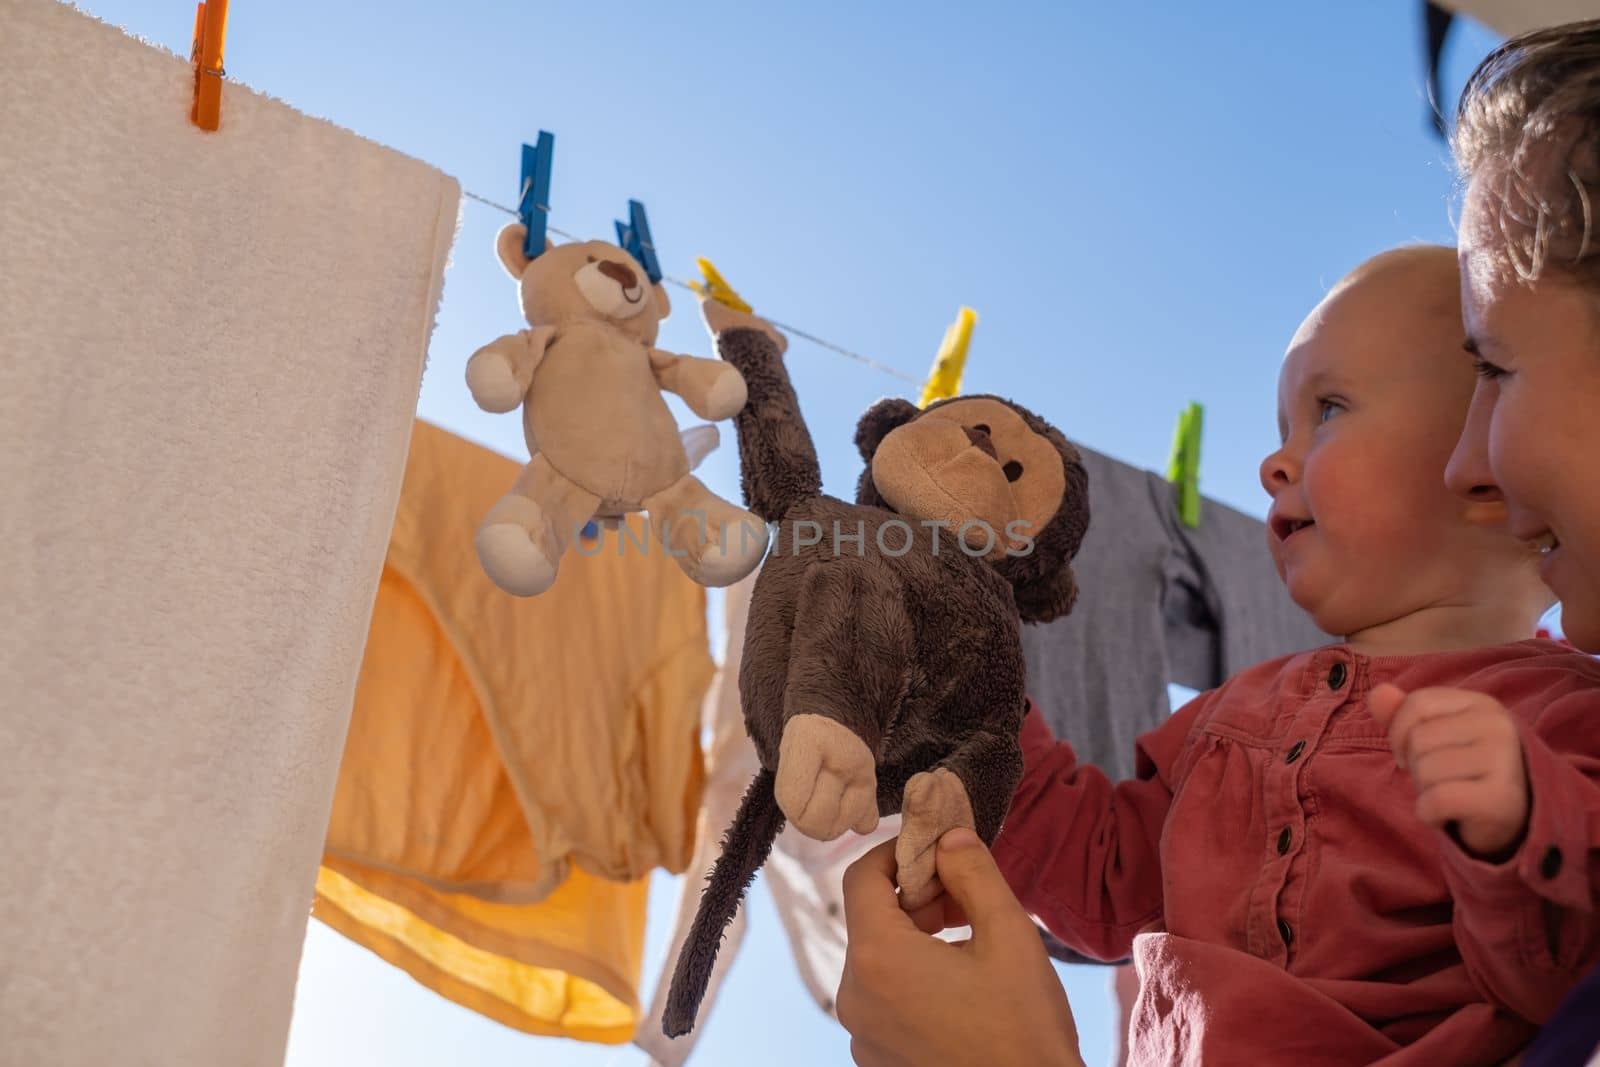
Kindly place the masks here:
<instances>
[{"instance_id":1,"label":"monkey plush's right leg, its tan foot pinched by adult's fingers","mask_svg":"<svg viewBox=\"0 0 1600 1067\"><path fill-rule=\"evenodd\" d=\"M968 737L939 766L906 782L894 843L894 878L904 909L918 909L944 891L934 869L934 846L946 832L965 825L984 843L998 837L1021 777L1022 749L1016 739L984 731Z\"/></svg>"}]
</instances>

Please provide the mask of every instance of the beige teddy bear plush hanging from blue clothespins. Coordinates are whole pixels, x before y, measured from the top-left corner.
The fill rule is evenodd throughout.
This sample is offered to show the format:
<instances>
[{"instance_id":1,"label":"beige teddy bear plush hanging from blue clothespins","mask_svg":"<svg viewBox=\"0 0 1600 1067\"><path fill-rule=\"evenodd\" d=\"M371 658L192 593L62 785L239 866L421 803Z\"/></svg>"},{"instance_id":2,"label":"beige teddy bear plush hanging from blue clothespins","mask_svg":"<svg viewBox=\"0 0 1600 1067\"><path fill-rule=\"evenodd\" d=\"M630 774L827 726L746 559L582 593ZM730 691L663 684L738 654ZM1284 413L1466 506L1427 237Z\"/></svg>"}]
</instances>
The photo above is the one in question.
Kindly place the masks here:
<instances>
[{"instance_id":1,"label":"beige teddy bear plush hanging from blue clothespins","mask_svg":"<svg viewBox=\"0 0 1600 1067\"><path fill-rule=\"evenodd\" d=\"M667 293L622 248L546 242L530 259L525 238L512 222L496 251L518 283L528 330L467 362L480 408L522 406L531 458L478 526L483 569L506 592L534 597L555 582L590 520L614 526L646 512L656 541L691 579L739 581L766 552L766 526L690 474L662 390L702 419L726 419L744 406L742 376L722 360L654 347L670 314Z\"/></svg>"}]
</instances>

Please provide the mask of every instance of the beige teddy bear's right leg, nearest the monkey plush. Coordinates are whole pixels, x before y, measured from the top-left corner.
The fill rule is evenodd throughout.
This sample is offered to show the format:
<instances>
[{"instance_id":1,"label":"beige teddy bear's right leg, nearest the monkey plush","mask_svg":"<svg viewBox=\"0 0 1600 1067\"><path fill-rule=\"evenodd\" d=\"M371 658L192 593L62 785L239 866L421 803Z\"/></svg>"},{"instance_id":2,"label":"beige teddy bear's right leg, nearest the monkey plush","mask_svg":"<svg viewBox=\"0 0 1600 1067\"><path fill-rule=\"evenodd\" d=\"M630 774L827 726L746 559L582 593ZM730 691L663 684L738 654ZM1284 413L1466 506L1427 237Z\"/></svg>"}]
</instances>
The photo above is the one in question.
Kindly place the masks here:
<instances>
[{"instance_id":1,"label":"beige teddy bear's right leg, nearest the monkey plush","mask_svg":"<svg viewBox=\"0 0 1600 1067\"><path fill-rule=\"evenodd\" d=\"M643 504L661 544L701 585L731 585L766 555L766 525L694 475L683 475Z\"/></svg>"}]
</instances>

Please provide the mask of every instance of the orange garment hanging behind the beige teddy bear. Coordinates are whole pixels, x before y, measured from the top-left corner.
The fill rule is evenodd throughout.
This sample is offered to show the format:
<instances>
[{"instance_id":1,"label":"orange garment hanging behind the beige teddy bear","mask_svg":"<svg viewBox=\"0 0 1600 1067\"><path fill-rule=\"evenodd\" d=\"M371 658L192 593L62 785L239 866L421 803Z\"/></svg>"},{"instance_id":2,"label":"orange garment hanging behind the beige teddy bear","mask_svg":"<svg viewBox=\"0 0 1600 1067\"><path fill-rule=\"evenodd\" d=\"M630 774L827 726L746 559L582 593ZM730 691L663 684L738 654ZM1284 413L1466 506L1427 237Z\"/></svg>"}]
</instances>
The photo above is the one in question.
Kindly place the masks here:
<instances>
[{"instance_id":1,"label":"orange garment hanging behind the beige teddy bear","mask_svg":"<svg viewBox=\"0 0 1600 1067\"><path fill-rule=\"evenodd\" d=\"M517 470L416 422L314 913L506 1025L622 1043L648 875L694 846L706 593L637 517L501 592L474 534Z\"/></svg>"}]
</instances>

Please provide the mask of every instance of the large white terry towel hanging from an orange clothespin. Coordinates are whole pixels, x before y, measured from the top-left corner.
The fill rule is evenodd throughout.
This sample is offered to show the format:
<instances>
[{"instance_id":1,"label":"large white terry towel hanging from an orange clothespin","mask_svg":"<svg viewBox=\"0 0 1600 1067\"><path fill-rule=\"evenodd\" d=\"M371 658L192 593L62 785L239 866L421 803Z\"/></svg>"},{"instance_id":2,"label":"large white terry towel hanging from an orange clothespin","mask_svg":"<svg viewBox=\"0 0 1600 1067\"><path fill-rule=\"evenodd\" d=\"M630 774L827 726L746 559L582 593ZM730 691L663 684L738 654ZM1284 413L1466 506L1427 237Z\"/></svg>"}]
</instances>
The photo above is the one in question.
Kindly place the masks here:
<instances>
[{"instance_id":1,"label":"large white terry towel hanging from an orange clothespin","mask_svg":"<svg viewBox=\"0 0 1600 1067\"><path fill-rule=\"evenodd\" d=\"M282 1064L459 187L0 26L0 1064Z\"/></svg>"}]
</instances>

